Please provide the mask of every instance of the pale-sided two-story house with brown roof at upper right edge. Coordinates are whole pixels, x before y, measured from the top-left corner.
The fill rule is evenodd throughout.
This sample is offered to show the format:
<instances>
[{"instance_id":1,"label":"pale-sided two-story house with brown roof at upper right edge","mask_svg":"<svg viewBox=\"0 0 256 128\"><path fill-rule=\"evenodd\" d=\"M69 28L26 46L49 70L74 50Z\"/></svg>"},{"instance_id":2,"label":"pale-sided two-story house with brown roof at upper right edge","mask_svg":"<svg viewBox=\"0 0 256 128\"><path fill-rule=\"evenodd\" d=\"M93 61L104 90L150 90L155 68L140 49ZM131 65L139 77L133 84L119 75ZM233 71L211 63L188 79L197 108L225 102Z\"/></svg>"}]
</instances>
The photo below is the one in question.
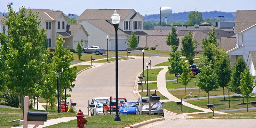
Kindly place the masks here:
<instances>
[{"instance_id":1,"label":"pale-sided two-story house with brown roof at upper right edge","mask_svg":"<svg viewBox=\"0 0 256 128\"><path fill-rule=\"evenodd\" d=\"M256 51L256 10L236 11L235 32L236 47L227 51L233 65L239 56L245 62L250 51Z\"/></svg>"}]
</instances>

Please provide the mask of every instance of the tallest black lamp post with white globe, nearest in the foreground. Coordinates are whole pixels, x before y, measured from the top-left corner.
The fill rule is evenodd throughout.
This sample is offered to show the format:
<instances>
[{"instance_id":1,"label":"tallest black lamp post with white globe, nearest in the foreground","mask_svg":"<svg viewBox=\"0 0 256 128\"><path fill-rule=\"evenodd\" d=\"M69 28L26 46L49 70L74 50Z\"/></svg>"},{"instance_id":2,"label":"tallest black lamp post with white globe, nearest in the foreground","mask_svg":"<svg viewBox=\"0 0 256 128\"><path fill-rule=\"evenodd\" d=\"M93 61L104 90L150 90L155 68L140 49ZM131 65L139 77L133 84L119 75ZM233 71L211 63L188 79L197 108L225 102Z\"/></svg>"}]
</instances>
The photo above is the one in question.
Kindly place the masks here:
<instances>
[{"instance_id":1,"label":"tallest black lamp post with white globe, nearest in the foreground","mask_svg":"<svg viewBox=\"0 0 256 128\"><path fill-rule=\"evenodd\" d=\"M121 121L120 116L118 115L118 48L117 48L117 30L120 22L120 16L117 14L116 10L114 14L111 16L112 23L114 25L116 31L116 115L114 117L114 121Z\"/></svg>"}]
</instances>

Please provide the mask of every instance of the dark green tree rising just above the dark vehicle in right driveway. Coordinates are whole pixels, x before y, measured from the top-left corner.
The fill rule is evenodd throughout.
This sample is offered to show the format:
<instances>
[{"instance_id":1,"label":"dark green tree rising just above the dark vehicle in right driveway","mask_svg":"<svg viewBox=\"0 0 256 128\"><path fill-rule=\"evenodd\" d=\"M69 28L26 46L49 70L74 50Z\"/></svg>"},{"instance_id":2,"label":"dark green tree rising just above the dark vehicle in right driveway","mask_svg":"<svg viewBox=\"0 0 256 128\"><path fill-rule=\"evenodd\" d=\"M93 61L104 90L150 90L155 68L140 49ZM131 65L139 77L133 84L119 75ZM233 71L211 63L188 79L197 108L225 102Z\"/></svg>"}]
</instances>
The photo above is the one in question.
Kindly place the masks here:
<instances>
[{"instance_id":1,"label":"dark green tree rising just above the dark vehicle in right driveway","mask_svg":"<svg viewBox=\"0 0 256 128\"><path fill-rule=\"evenodd\" d=\"M193 33L190 31L188 35L184 36L181 41L181 55L185 56L188 60L188 63L191 65L194 63L194 56L196 54L195 49L198 43L197 40L193 40Z\"/></svg>"}]
</instances>

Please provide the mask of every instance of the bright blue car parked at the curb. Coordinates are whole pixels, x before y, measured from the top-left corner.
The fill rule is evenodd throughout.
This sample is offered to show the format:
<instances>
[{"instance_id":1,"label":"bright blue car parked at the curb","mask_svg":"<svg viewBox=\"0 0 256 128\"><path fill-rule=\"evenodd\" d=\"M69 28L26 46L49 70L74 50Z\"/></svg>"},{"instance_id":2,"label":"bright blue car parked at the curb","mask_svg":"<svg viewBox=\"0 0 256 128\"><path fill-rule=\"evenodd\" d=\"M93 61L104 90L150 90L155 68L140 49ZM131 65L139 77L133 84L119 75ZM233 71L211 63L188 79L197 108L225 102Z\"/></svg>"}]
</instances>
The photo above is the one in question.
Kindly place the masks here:
<instances>
[{"instance_id":1,"label":"bright blue car parked at the curb","mask_svg":"<svg viewBox=\"0 0 256 128\"><path fill-rule=\"evenodd\" d=\"M136 102L123 102L121 108L119 109L119 114L136 114Z\"/></svg>"}]
</instances>

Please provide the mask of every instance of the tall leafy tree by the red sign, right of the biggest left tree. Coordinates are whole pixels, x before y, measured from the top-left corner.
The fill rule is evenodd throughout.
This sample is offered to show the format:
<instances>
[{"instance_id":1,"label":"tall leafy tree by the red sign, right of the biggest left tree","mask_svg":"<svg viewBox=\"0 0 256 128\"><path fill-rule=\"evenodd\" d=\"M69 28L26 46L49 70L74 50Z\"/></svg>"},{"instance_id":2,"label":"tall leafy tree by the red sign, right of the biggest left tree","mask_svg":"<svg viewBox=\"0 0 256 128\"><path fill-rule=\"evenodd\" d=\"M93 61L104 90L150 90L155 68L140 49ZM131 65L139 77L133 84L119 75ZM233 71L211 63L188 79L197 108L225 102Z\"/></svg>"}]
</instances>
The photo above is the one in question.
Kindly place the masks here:
<instances>
[{"instance_id":1,"label":"tall leafy tree by the red sign, right of the biggest left tree","mask_svg":"<svg viewBox=\"0 0 256 128\"><path fill-rule=\"evenodd\" d=\"M53 67L55 71L60 72L60 78L59 78L60 97L62 97L61 94L65 89L72 91L72 88L75 86L73 82L76 80L76 69L77 69L76 66L71 68L69 67L71 65L71 62L74 60L74 56L73 56L73 53L68 50L69 47L64 48L63 46L64 43L65 43L65 40L62 40L61 35L59 35L58 40L56 41L56 46L54 47L55 52L52 52ZM56 79L57 78L55 77L55 80L52 81L53 84L56 83Z\"/></svg>"}]
</instances>

